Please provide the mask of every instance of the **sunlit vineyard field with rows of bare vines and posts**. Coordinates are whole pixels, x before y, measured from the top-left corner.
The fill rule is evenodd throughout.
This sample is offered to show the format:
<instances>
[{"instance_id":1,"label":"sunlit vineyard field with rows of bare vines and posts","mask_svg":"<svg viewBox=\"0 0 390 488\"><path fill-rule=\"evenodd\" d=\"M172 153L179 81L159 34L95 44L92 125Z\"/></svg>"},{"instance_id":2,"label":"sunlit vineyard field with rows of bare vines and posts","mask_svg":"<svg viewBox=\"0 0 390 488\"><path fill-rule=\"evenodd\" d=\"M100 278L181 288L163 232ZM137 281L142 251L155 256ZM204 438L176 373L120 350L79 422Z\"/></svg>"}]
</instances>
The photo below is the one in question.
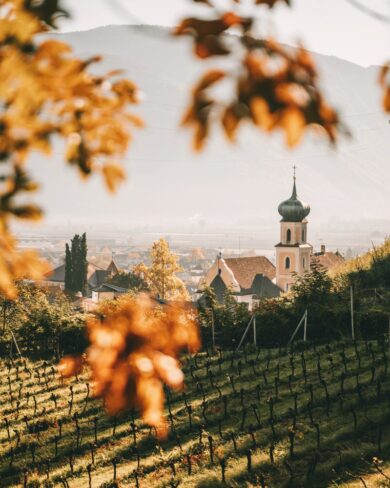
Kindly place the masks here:
<instances>
[{"instance_id":1,"label":"sunlit vineyard field with rows of bare vines and posts","mask_svg":"<svg viewBox=\"0 0 390 488\"><path fill-rule=\"evenodd\" d=\"M86 375L3 360L0 486L390 487L388 345L184 357L169 436L111 418Z\"/></svg>"}]
</instances>

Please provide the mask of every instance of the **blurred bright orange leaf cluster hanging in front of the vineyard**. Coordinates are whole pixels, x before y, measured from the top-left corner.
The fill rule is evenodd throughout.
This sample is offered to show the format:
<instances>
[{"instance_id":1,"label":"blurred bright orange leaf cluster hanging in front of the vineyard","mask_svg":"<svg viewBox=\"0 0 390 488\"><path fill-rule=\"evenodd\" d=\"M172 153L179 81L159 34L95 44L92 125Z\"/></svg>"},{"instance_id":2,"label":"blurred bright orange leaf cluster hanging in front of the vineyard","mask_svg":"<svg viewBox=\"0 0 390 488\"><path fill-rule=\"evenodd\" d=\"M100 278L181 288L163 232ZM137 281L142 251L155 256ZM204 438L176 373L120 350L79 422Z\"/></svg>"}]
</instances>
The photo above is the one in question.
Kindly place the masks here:
<instances>
[{"instance_id":1,"label":"blurred bright orange leaf cluster hanging in front of the vineyard","mask_svg":"<svg viewBox=\"0 0 390 488\"><path fill-rule=\"evenodd\" d=\"M163 384L182 388L178 354L200 346L194 311L176 305L162 308L147 295L139 295L102 313L105 318L88 323L91 345L86 362L94 394L105 399L112 414L140 409L144 421L163 435ZM66 358L61 372L71 375L78 365L77 359Z\"/></svg>"}]
</instances>

